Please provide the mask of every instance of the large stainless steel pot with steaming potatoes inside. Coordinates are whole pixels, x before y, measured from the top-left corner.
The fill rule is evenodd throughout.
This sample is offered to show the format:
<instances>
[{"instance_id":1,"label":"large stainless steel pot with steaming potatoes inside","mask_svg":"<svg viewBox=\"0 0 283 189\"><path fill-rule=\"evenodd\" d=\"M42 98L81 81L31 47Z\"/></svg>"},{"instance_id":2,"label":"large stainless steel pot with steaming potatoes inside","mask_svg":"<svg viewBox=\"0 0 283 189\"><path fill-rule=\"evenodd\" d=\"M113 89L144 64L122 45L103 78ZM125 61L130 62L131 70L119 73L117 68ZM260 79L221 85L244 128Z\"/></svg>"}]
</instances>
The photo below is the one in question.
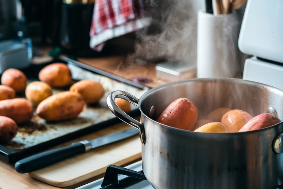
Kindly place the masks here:
<instances>
[{"instance_id":1,"label":"large stainless steel pot with steaming potatoes inside","mask_svg":"<svg viewBox=\"0 0 283 189\"><path fill-rule=\"evenodd\" d=\"M141 122L118 108L117 97L139 106ZM154 188L275 189L283 184L282 122L243 133L195 133L149 118L151 106L159 116L181 97L191 99L203 115L228 107L252 116L273 110L283 120L283 91L241 79L171 82L149 90L139 100L123 91L110 93L106 102L111 111L140 130L143 172Z\"/></svg>"}]
</instances>

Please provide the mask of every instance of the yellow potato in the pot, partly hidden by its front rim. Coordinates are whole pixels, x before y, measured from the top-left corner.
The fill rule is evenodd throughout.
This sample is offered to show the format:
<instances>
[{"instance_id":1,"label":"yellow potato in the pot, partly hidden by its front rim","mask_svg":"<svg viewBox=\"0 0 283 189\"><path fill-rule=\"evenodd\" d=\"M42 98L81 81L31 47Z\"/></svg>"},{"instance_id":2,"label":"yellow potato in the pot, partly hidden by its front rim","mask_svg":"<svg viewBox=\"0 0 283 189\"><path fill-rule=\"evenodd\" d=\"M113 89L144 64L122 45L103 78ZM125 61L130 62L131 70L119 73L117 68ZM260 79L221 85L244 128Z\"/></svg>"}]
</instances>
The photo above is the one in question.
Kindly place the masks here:
<instances>
[{"instance_id":1,"label":"yellow potato in the pot, partly hidden by its front rim","mask_svg":"<svg viewBox=\"0 0 283 189\"><path fill-rule=\"evenodd\" d=\"M196 129L194 132L199 133L229 133L228 128L221 122L208 123L200 128Z\"/></svg>"}]
</instances>

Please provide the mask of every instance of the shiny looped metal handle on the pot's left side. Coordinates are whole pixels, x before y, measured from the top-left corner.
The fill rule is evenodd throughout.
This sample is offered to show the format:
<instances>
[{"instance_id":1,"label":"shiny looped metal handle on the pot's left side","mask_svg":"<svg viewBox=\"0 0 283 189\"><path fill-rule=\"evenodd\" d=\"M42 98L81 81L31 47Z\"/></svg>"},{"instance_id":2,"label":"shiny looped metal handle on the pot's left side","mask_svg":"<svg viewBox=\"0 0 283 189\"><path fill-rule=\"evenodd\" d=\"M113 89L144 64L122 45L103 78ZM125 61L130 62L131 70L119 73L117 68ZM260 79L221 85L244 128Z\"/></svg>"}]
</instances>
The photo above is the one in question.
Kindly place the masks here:
<instances>
[{"instance_id":1,"label":"shiny looped metal handle on the pot's left side","mask_svg":"<svg viewBox=\"0 0 283 189\"><path fill-rule=\"evenodd\" d=\"M128 114L126 114L123 110L121 110L117 104L115 103L115 98L121 98L124 100L127 100L128 102L138 106L139 99L134 97L133 95L125 92L125 91L114 91L111 92L107 97L106 97L106 104L112 111L112 113L122 120L123 122L129 124L130 126L133 126L134 128L137 128L140 130L140 140L141 143L145 144L145 133L143 126L141 125L140 122L135 120L134 118L130 117Z\"/></svg>"}]
</instances>

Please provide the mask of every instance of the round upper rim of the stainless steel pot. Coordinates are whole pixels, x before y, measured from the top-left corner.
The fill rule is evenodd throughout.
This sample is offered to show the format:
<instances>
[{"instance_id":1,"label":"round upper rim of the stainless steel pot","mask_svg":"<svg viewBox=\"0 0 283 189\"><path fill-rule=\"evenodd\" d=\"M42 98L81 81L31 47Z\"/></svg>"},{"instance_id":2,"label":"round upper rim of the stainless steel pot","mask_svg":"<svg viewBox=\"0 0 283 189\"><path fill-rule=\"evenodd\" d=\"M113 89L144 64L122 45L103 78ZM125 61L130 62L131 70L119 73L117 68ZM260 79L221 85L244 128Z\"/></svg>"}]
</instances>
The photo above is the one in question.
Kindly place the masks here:
<instances>
[{"instance_id":1,"label":"round upper rim of the stainless steel pot","mask_svg":"<svg viewBox=\"0 0 283 189\"><path fill-rule=\"evenodd\" d=\"M174 130L179 130L179 131L182 131L182 132L187 132L187 133L195 133L196 135L210 135L210 136L215 136L215 137L218 137L218 136L223 136L223 135L243 135L243 134L250 134L250 133L256 133L256 132L261 132L261 131L264 131L264 130L268 130L268 129L271 129L271 127L274 127L274 126L277 126L277 125L280 125L283 121L281 121L280 123L278 124L275 124L275 125L272 125L272 126L269 126L269 127L266 127L266 128L262 128L262 129L256 129L256 130L252 130L252 131L245 131L245 132L234 132L234 133L200 133L200 132L194 132L194 131L189 131L189 130L185 130L185 129L179 129L179 128L175 128L175 127L171 127L171 126L168 126L168 125L164 125L164 124L161 124L159 122L156 122L155 120L149 118L149 116L147 116L142 110L141 110L141 103L142 101L151 93L155 92L156 90L161 90L162 88L165 88L165 87L168 87L168 86L171 86L171 85L175 85L175 84L182 84L182 83L186 83L186 82L194 82L194 81L199 81L199 82L222 82L222 83L239 83L239 84L247 84L247 85L252 85L252 86L258 86L258 87L261 87L261 88L267 88L266 90L269 90L269 91L275 91L277 93L281 93L282 97L283 97L283 91L276 88L276 87L273 87L273 86L270 86L270 85L266 85L266 84L263 84L263 83L259 83L259 82L254 82L254 81L249 81L249 80L243 80L243 79L238 79L238 78L193 78L193 79L185 79L185 80L178 80L178 81L173 81L173 82L169 82L169 83L166 83L166 84L162 84L160 86L157 86L155 88L152 88L150 89L149 91L145 92L139 99L139 103L138 103L138 107L140 109L140 112L141 114L143 114L143 116L145 116L147 119L163 126L163 127L167 127L167 128L170 128L170 129L174 129Z\"/></svg>"}]
</instances>

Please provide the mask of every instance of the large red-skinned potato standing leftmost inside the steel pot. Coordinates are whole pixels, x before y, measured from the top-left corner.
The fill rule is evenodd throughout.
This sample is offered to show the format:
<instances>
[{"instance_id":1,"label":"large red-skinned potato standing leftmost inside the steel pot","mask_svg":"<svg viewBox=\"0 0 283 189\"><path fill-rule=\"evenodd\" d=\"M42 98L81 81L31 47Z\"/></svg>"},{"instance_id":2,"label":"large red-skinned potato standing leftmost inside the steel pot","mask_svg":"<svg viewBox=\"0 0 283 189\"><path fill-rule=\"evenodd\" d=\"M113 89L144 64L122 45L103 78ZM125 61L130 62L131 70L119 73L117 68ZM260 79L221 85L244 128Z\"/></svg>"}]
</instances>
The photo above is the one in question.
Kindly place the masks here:
<instances>
[{"instance_id":1,"label":"large red-skinned potato standing leftmost inside the steel pot","mask_svg":"<svg viewBox=\"0 0 283 189\"><path fill-rule=\"evenodd\" d=\"M187 98L179 98L173 101L160 114L157 122L171 127L192 130L198 119L198 109Z\"/></svg>"}]
</instances>

